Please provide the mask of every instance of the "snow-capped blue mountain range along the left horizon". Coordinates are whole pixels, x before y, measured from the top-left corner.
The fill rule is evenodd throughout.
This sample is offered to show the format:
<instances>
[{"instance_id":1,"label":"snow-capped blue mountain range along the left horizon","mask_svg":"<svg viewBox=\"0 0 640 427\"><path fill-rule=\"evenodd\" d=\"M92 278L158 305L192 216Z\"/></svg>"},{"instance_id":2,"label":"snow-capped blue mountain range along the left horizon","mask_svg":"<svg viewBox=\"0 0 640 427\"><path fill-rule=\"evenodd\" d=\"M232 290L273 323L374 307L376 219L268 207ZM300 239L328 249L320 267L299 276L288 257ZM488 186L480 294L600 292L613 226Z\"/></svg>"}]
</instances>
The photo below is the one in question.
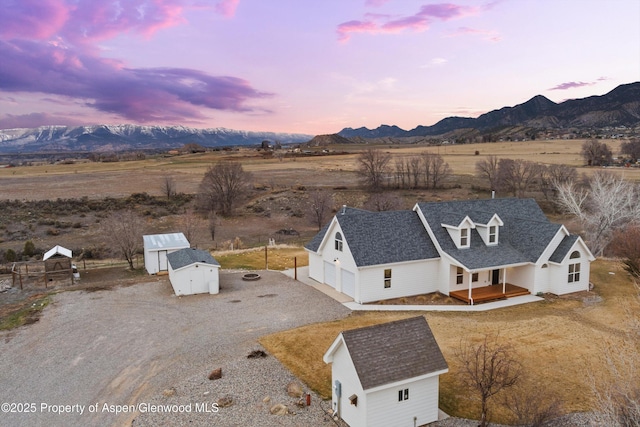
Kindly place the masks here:
<instances>
[{"instance_id":1,"label":"snow-capped blue mountain range along the left horizon","mask_svg":"<svg viewBox=\"0 0 640 427\"><path fill-rule=\"evenodd\" d=\"M311 138L313 135L185 126L42 126L0 130L0 153L173 149L187 144L223 147L259 145L264 140L291 144Z\"/></svg>"}]
</instances>

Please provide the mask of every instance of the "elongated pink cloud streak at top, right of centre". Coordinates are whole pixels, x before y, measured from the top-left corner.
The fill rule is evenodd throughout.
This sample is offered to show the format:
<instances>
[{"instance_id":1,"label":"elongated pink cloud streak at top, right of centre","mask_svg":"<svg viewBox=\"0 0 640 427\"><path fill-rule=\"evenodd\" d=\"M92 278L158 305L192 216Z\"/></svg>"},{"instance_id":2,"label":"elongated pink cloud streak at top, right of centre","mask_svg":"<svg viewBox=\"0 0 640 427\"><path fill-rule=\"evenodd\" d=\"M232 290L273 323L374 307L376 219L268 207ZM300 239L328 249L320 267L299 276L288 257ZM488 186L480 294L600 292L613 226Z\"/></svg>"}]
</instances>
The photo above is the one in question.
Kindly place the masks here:
<instances>
[{"instance_id":1,"label":"elongated pink cloud streak at top, right of centre","mask_svg":"<svg viewBox=\"0 0 640 427\"><path fill-rule=\"evenodd\" d=\"M369 4L369 3L367 3ZM410 16L391 19L388 15L367 15L364 21L349 21L337 27L338 40L347 41L352 33L398 33L404 30L424 31L434 21L448 21L479 12L478 8L460 6L453 3L424 5Z\"/></svg>"}]
</instances>

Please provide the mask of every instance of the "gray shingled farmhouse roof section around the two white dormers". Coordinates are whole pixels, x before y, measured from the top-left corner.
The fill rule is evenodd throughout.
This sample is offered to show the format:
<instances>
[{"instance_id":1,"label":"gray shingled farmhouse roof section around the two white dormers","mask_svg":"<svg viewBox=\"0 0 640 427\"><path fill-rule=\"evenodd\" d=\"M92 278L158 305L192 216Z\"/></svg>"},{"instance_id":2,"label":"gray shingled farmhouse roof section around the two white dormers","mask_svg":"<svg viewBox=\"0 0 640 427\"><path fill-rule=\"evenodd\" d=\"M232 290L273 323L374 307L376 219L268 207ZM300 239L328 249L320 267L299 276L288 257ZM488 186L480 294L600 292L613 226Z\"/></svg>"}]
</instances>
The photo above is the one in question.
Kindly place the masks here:
<instances>
[{"instance_id":1,"label":"gray shingled farmhouse roof section around the two white dormers","mask_svg":"<svg viewBox=\"0 0 640 427\"><path fill-rule=\"evenodd\" d=\"M418 207L442 250L469 270L536 262L561 227L549 222L533 199L419 203ZM498 214L504 222L499 229L498 244L486 246L478 232L471 230L470 247L458 249L442 224L450 223L447 218L452 214L459 216L460 212L483 223Z\"/></svg>"}]
</instances>

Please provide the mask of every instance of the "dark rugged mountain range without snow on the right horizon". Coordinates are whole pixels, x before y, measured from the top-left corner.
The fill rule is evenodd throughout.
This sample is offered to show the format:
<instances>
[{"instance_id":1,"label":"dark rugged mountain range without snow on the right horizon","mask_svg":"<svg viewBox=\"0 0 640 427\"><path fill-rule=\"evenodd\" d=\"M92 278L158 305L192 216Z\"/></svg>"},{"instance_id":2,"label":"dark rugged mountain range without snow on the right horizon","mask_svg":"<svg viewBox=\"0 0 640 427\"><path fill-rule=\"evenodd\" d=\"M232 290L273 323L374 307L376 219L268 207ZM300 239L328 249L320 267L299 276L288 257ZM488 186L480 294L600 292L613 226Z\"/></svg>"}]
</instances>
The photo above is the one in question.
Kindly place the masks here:
<instances>
[{"instance_id":1,"label":"dark rugged mountain range without snow on the right horizon","mask_svg":"<svg viewBox=\"0 0 640 427\"><path fill-rule=\"evenodd\" d=\"M443 135L461 129L484 132L505 126L560 129L637 125L640 125L640 82L620 85L605 95L572 99L559 104L537 95L523 104L503 107L475 119L447 117L432 126L417 126L408 131L397 126L382 125L376 129L345 128L338 135L345 138L399 138Z\"/></svg>"}]
</instances>

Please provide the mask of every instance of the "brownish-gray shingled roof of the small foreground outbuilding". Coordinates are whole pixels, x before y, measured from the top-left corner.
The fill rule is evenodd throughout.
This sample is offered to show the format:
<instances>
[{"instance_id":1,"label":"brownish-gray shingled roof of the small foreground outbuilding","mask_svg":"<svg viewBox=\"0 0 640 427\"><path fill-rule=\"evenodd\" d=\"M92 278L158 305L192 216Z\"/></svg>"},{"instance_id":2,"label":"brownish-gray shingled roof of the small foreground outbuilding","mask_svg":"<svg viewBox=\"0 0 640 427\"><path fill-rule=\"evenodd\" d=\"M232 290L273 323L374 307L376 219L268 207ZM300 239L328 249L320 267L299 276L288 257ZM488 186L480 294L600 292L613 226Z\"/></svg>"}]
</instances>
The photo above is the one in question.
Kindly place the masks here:
<instances>
[{"instance_id":1,"label":"brownish-gray shingled roof of the small foreground outbuilding","mask_svg":"<svg viewBox=\"0 0 640 427\"><path fill-rule=\"evenodd\" d=\"M448 369L424 317L342 332L364 390Z\"/></svg>"}]
</instances>

